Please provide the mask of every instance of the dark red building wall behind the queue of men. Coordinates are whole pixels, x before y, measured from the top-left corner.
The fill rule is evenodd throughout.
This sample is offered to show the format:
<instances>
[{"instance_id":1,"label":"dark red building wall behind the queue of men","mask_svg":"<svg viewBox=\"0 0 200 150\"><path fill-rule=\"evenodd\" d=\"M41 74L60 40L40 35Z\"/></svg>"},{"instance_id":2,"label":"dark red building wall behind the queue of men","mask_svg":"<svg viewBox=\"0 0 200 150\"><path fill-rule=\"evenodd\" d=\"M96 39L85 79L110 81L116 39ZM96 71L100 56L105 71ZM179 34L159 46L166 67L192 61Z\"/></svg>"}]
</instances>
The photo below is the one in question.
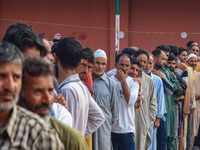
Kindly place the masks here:
<instances>
[{"instance_id":1,"label":"dark red building wall behind the queue of men","mask_svg":"<svg viewBox=\"0 0 200 150\"><path fill-rule=\"evenodd\" d=\"M129 46L152 51L159 44L186 46L199 40L199 0L121 0L120 50ZM115 0L0 0L0 38L14 22L24 21L35 32L73 36L83 46L108 55L107 70L114 67ZM186 39L181 32L187 32Z\"/></svg>"}]
</instances>

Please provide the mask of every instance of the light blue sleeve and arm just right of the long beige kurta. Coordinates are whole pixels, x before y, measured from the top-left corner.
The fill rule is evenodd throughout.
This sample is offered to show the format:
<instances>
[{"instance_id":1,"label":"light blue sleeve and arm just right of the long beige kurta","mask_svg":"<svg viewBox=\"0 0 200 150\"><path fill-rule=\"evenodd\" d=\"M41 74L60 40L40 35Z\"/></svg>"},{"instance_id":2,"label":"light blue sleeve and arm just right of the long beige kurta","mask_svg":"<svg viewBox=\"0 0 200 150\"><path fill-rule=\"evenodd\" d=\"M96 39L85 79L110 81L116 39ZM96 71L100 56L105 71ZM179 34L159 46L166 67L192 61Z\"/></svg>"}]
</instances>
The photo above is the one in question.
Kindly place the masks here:
<instances>
[{"instance_id":1,"label":"light blue sleeve and arm just right of the long beige kurta","mask_svg":"<svg viewBox=\"0 0 200 150\"><path fill-rule=\"evenodd\" d=\"M167 113L166 106L165 106L165 95L164 95L164 88L163 82L160 77L151 73L150 76L153 78L153 82L155 85L156 97L157 97L157 117L166 120L164 114Z\"/></svg>"}]
</instances>

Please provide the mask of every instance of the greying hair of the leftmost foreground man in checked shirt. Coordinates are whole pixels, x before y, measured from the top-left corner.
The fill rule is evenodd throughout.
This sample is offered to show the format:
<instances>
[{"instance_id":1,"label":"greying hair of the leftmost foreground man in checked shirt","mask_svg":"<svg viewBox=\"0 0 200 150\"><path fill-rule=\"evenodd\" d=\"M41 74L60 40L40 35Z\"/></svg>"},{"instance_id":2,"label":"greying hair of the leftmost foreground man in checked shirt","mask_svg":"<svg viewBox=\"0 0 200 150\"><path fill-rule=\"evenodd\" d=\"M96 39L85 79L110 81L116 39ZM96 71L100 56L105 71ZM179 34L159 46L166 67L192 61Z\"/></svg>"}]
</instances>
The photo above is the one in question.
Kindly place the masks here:
<instances>
[{"instance_id":1,"label":"greying hair of the leftmost foreground man in checked shirt","mask_svg":"<svg viewBox=\"0 0 200 150\"><path fill-rule=\"evenodd\" d=\"M23 63L24 56L20 49L7 41L0 41L0 63L12 62L15 59L20 59Z\"/></svg>"}]
</instances>

